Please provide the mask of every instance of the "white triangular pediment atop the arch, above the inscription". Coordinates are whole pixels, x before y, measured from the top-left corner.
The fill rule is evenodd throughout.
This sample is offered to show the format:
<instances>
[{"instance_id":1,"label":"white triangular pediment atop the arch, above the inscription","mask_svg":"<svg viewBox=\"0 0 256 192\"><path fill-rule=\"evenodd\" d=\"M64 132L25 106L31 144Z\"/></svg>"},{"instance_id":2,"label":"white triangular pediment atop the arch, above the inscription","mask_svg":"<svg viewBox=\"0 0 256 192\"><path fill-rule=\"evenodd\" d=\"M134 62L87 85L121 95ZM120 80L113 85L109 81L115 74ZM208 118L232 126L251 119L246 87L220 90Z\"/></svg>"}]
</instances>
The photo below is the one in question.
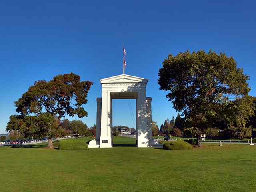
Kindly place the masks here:
<instances>
[{"instance_id":1,"label":"white triangular pediment atop the arch, above the inscription","mask_svg":"<svg viewBox=\"0 0 256 192\"><path fill-rule=\"evenodd\" d=\"M100 79L100 83L139 83L139 82L147 83L148 79L126 75L126 74Z\"/></svg>"}]
</instances>

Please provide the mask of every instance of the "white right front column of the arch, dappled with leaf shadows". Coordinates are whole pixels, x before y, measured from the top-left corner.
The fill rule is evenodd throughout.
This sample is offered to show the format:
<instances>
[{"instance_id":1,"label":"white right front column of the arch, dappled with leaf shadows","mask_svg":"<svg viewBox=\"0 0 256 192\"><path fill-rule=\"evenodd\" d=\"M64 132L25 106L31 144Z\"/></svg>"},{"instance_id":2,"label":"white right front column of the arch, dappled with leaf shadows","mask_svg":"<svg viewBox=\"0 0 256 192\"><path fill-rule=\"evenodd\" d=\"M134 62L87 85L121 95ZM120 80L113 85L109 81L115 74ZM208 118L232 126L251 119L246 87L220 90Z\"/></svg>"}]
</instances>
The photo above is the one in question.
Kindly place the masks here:
<instances>
[{"instance_id":1,"label":"white right front column of the arch, dappled with leaf shadows","mask_svg":"<svg viewBox=\"0 0 256 192\"><path fill-rule=\"evenodd\" d=\"M137 147L148 146L148 128L147 128L147 112L146 112L146 90L138 91L136 100L136 124L137 124Z\"/></svg>"}]
</instances>

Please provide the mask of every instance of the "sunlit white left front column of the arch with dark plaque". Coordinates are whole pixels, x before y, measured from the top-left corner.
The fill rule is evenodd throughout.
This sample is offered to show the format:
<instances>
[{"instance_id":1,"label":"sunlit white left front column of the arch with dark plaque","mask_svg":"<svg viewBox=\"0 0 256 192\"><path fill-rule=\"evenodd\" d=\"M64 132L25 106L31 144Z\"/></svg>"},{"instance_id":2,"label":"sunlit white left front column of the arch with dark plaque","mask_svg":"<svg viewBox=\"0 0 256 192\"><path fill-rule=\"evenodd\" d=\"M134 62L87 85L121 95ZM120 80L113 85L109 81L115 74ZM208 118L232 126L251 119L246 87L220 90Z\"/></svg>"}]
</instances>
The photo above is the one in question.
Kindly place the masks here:
<instances>
[{"instance_id":1,"label":"sunlit white left front column of the arch with dark plaque","mask_svg":"<svg viewBox=\"0 0 256 192\"><path fill-rule=\"evenodd\" d=\"M111 96L107 90L102 90L100 147L112 147L111 144Z\"/></svg>"}]
</instances>

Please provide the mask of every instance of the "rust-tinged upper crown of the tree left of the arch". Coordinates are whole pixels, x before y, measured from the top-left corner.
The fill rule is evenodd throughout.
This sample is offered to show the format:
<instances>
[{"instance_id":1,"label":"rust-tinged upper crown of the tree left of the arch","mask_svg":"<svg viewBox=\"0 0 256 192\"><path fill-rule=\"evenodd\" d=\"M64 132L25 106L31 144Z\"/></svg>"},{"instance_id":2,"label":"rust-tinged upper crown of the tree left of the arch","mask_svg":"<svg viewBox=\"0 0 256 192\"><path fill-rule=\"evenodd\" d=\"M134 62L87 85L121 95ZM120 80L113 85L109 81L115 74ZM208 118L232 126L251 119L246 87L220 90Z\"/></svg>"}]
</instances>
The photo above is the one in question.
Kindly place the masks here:
<instances>
[{"instance_id":1,"label":"rust-tinged upper crown of the tree left of the arch","mask_svg":"<svg viewBox=\"0 0 256 192\"><path fill-rule=\"evenodd\" d=\"M90 81L80 81L80 76L73 73L55 76L48 82L36 81L14 102L16 112L24 116L41 114L44 109L59 119L65 114L82 118L87 116L82 105L88 101L86 97L92 84Z\"/></svg>"}]
</instances>

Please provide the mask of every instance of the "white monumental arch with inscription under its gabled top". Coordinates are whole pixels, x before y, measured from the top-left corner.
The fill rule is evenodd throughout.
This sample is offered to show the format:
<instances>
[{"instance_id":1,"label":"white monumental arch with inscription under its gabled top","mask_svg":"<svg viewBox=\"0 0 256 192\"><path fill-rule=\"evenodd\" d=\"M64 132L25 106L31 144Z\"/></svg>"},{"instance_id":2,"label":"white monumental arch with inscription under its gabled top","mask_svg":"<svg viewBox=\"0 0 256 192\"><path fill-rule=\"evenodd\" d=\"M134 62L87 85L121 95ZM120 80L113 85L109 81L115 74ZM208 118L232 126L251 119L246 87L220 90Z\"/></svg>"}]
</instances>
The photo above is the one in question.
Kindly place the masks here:
<instances>
[{"instance_id":1,"label":"white monumental arch with inscription under its gabled top","mask_svg":"<svg viewBox=\"0 0 256 192\"><path fill-rule=\"evenodd\" d=\"M148 79L131 75L117 75L100 80L102 97L97 101L96 140L89 147L112 147L112 100L136 99L136 146L152 146L151 97L146 97Z\"/></svg>"}]
</instances>

